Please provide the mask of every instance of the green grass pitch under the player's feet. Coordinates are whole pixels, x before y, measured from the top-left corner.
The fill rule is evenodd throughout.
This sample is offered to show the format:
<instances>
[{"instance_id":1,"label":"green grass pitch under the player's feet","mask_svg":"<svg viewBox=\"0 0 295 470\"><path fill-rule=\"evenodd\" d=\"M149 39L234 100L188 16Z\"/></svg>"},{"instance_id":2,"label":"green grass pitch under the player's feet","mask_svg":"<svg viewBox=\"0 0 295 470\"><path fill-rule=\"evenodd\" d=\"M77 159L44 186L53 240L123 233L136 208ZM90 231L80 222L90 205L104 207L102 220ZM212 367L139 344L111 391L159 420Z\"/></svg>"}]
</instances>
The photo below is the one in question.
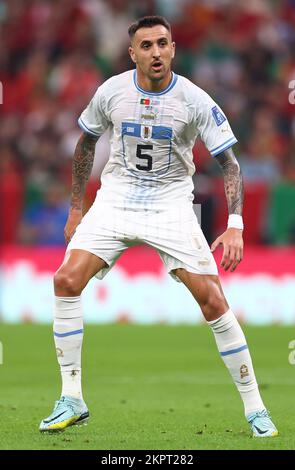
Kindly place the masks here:
<instances>
[{"instance_id":1,"label":"green grass pitch under the player's feet","mask_svg":"<svg viewBox=\"0 0 295 470\"><path fill-rule=\"evenodd\" d=\"M203 326L86 325L87 426L47 435L59 397L50 326L0 325L0 449L295 449L289 327L247 327L257 378L280 431L253 439L211 331Z\"/></svg>"}]
</instances>

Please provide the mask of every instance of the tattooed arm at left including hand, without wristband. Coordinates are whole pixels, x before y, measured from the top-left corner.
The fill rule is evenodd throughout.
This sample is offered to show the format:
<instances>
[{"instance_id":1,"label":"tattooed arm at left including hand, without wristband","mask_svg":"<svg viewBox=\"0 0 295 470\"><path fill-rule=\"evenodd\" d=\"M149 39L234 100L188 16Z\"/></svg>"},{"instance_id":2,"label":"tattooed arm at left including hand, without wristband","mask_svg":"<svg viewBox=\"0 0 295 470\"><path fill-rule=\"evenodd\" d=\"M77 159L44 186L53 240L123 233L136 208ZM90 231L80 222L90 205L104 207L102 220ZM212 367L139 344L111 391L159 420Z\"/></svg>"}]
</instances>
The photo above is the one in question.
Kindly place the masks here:
<instances>
[{"instance_id":1,"label":"tattooed arm at left including hand, without wristband","mask_svg":"<svg viewBox=\"0 0 295 470\"><path fill-rule=\"evenodd\" d=\"M96 142L96 137L83 133L75 149L72 167L71 207L64 230L66 242L70 241L82 219L83 198L93 166Z\"/></svg>"}]
</instances>

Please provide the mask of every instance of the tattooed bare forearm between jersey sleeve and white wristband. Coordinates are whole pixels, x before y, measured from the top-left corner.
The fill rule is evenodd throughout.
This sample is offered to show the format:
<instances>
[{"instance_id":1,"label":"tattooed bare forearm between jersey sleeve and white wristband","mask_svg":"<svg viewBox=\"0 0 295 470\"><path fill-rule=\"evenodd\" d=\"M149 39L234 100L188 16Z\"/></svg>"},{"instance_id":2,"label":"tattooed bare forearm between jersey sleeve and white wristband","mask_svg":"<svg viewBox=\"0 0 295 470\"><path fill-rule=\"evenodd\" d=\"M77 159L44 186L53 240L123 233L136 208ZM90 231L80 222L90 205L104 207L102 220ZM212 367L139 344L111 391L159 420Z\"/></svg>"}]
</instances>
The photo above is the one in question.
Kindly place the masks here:
<instances>
[{"instance_id":1,"label":"tattooed bare forearm between jersey sleeve and white wristband","mask_svg":"<svg viewBox=\"0 0 295 470\"><path fill-rule=\"evenodd\" d=\"M216 160L222 168L224 189L229 214L242 215L244 184L239 163L233 150L227 149L217 155Z\"/></svg>"}]
</instances>

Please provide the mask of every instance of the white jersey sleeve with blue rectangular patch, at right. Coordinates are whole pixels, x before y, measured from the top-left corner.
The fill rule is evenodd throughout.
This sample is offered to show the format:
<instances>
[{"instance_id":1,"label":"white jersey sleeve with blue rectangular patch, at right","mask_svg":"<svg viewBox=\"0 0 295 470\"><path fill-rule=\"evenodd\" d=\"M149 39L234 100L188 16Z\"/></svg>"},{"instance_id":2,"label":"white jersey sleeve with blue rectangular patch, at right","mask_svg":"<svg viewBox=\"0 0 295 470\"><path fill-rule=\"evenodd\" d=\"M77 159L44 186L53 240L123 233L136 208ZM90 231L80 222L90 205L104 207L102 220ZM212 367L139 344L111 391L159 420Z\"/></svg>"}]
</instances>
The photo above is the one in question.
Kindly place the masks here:
<instances>
[{"instance_id":1,"label":"white jersey sleeve with blue rectangular patch, at right","mask_svg":"<svg viewBox=\"0 0 295 470\"><path fill-rule=\"evenodd\" d=\"M196 108L199 137L213 157L237 142L223 111L206 92L202 91Z\"/></svg>"}]
</instances>

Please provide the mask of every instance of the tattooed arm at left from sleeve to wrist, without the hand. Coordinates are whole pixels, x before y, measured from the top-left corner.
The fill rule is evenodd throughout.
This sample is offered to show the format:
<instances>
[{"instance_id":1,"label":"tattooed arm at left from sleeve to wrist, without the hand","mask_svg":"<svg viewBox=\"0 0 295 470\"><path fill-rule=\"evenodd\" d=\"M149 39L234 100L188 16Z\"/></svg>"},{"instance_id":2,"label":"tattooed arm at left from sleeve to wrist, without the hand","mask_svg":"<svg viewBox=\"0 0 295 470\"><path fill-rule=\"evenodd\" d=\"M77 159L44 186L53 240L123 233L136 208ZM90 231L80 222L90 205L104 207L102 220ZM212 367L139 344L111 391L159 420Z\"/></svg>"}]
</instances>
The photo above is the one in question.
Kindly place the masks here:
<instances>
[{"instance_id":1,"label":"tattooed arm at left from sleeve to wrist, without the hand","mask_svg":"<svg viewBox=\"0 0 295 470\"><path fill-rule=\"evenodd\" d=\"M98 138L83 133L78 140L72 167L71 208L82 209L86 184L89 179Z\"/></svg>"}]
</instances>

